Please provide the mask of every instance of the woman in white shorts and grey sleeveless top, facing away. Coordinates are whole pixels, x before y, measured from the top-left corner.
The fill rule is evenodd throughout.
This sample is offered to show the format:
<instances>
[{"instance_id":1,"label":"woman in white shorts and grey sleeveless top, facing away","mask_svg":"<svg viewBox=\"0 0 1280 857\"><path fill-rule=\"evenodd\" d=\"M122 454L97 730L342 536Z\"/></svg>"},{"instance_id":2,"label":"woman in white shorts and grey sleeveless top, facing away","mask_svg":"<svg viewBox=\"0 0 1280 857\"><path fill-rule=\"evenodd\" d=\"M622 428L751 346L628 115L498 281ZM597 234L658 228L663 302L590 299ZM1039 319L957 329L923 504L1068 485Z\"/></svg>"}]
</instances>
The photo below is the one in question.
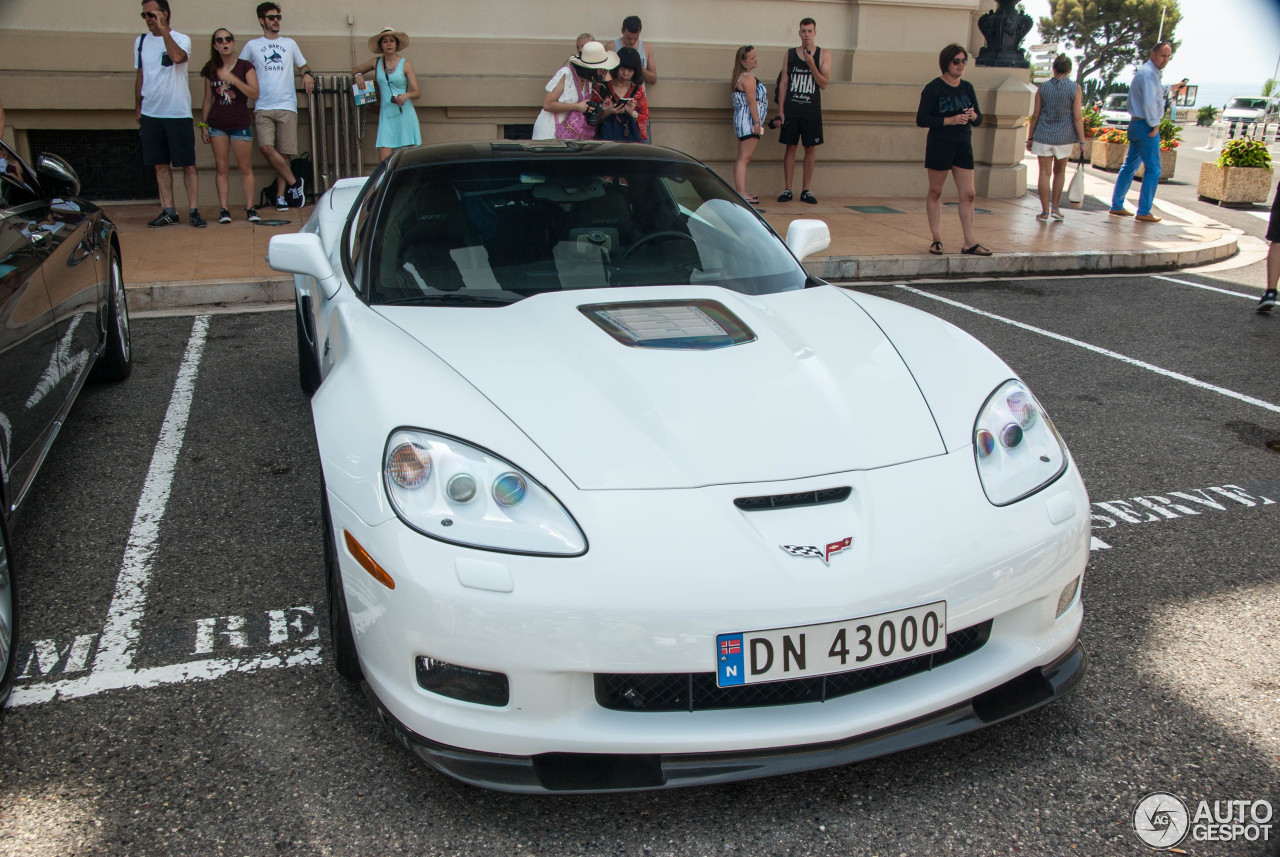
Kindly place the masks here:
<instances>
[{"instance_id":1,"label":"woman in white shorts and grey sleeveless top, facing away","mask_svg":"<svg viewBox=\"0 0 1280 857\"><path fill-rule=\"evenodd\" d=\"M1037 220L1061 220L1057 203L1062 200L1066 183L1066 161L1075 143L1084 145L1084 116L1080 115L1080 87L1066 75L1071 73L1071 58L1059 54L1053 60L1053 77L1041 83L1036 91L1036 109L1027 129L1027 151L1041 162L1037 189L1041 212ZM1052 197L1050 196L1052 173Z\"/></svg>"}]
</instances>

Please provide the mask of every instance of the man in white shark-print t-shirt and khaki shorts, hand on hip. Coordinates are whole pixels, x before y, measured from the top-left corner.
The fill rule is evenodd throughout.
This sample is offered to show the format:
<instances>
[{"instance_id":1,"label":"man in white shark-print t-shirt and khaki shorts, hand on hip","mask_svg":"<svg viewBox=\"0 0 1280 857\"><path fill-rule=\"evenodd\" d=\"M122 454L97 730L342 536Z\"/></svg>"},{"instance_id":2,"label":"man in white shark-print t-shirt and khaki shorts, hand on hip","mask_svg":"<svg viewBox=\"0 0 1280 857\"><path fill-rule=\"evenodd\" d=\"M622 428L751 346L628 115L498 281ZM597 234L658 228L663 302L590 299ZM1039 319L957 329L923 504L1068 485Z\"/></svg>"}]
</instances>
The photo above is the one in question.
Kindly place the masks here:
<instances>
[{"instance_id":1,"label":"man in white shark-print t-shirt and khaki shorts, hand on hip","mask_svg":"<svg viewBox=\"0 0 1280 857\"><path fill-rule=\"evenodd\" d=\"M252 63L257 72L253 130L259 150L275 170L276 211L306 201L302 179L294 177L289 166L289 157L298 153L298 93L293 70L301 72L308 95L315 87L315 75L298 43L280 35L280 18L278 3L260 3L257 23L262 27L262 37L251 38L241 51L241 59Z\"/></svg>"}]
</instances>

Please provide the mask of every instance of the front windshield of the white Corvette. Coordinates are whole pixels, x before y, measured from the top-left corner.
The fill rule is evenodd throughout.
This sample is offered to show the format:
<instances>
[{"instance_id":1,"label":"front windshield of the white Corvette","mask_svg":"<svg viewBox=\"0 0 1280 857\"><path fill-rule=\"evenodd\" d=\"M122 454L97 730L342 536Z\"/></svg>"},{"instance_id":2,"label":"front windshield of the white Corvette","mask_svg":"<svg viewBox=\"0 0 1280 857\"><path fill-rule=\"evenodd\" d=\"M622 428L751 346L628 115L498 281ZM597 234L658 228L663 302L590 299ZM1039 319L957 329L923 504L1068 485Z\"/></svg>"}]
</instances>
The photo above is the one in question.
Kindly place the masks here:
<instances>
[{"instance_id":1,"label":"front windshield of the white Corvette","mask_svg":"<svg viewBox=\"0 0 1280 857\"><path fill-rule=\"evenodd\" d=\"M540 292L801 289L804 269L710 170L527 159L396 173L370 247L370 303L497 306Z\"/></svg>"}]
</instances>

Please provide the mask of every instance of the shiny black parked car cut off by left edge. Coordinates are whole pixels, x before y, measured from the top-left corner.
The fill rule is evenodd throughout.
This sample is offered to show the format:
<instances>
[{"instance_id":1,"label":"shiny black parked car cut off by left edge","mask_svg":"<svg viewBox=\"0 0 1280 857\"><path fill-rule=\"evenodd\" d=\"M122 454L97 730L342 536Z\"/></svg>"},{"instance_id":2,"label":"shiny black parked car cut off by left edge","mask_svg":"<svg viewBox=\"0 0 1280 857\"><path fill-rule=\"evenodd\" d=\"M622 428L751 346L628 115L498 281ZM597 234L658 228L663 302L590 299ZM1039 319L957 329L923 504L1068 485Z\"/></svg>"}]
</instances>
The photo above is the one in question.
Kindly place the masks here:
<instances>
[{"instance_id":1,"label":"shiny black parked car cut off by left edge","mask_svg":"<svg viewBox=\"0 0 1280 857\"><path fill-rule=\"evenodd\" d=\"M10 524L84 381L128 377L115 225L60 157L0 143L0 704L17 661Z\"/></svg>"}]
</instances>

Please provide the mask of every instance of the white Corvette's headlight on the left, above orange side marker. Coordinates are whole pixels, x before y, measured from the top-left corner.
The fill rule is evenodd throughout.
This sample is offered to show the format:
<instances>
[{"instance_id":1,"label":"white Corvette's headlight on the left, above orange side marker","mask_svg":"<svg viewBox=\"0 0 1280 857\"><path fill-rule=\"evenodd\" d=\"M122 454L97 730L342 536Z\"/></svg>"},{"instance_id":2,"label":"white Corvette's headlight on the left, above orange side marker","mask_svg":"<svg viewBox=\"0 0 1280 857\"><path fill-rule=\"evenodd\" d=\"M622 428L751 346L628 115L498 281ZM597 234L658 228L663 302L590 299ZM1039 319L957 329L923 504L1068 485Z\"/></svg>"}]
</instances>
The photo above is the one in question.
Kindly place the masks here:
<instances>
[{"instance_id":1,"label":"white Corvette's headlight on the left, above orange side marker","mask_svg":"<svg viewBox=\"0 0 1280 857\"><path fill-rule=\"evenodd\" d=\"M383 484L401 521L431 539L513 554L586 553L586 536L550 491L456 437L392 432Z\"/></svg>"}]
</instances>

